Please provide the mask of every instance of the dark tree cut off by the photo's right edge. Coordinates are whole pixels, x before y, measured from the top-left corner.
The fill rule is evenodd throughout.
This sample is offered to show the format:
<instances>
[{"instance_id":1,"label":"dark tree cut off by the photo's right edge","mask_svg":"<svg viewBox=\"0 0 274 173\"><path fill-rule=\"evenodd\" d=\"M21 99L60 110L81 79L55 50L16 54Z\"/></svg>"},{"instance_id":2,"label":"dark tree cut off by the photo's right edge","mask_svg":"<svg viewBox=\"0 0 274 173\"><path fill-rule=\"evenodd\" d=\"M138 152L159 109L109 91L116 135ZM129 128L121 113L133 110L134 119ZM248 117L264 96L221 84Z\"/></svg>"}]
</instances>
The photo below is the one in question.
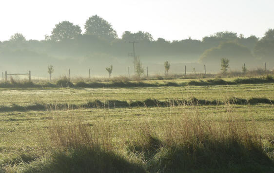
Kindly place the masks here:
<instances>
[{"instance_id":1,"label":"dark tree cut off by the photo's right edge","mask_svg":"<svg viewBox=\"0 0 274 173\"><path fill-rule=\"evenodd\" d=\"M254 47L254 55L263 60L274 62L274 29L269 29Z\"/></svg>"}]
</instances>

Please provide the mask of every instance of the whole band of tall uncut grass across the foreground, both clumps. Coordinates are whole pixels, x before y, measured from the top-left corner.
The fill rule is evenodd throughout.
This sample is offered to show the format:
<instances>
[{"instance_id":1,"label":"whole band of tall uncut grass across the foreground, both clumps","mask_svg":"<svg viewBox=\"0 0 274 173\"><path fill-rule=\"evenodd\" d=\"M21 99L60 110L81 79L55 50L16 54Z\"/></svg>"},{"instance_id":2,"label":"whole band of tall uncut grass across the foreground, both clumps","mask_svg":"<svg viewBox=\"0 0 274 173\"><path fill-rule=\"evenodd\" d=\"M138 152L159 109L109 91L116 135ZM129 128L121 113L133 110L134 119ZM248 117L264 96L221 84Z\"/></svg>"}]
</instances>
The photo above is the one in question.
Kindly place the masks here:
<instances>
[{"instance_id":1,"label":"whole band of tall uncut grass across the foreground, both clumps","mask_svg":"<svg viewBox=\"0 0 274 173\"><path fill-rule=\"evenodd\" d=\"M257 126L249 127L231 111L227 105L221 121L198 112L180 112L164 124L135 124L137 130L123 131L118 141L107 124L91 127L78 119L51 121L46 142L50 152L5 169L29 173L272 171L274 162L264 150Z\"/></svg>"}]
</instances>

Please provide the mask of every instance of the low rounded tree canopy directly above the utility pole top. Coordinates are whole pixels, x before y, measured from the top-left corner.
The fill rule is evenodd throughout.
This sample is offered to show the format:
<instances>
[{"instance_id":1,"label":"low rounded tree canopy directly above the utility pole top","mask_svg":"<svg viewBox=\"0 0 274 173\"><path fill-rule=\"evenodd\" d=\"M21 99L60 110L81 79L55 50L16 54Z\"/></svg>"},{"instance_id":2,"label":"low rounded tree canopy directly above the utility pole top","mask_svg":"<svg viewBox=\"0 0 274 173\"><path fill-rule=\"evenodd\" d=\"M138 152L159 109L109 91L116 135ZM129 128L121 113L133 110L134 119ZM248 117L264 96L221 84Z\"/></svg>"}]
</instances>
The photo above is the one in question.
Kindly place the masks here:
<instances>
[{"instance_id":1,"label":"low rounded tree canopy directly above the utility pole top","mask_svg":"<svg viewBox=\"0 0 274 173\"><path fill-rule=\"evenodd\" d=\"M139 31L137 33L131 33L130 31L125 31L122 35L122 39L125 41L152 41L153 37L148 32Z\"/></svg>"}]
</instances>

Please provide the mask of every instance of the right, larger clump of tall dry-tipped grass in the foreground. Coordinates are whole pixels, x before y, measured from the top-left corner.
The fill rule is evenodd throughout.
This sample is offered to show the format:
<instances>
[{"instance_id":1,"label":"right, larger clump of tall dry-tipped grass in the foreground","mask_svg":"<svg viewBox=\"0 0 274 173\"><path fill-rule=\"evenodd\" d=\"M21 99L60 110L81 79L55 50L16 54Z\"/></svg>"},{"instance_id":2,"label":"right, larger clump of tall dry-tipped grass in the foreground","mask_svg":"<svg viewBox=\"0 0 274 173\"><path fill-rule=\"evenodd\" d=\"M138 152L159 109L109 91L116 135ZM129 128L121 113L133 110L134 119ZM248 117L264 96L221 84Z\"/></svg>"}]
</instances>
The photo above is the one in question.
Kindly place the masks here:
<instances>
[{"instance_id":1,"label":"right, larger clump of tall dry-tipped grass in the foreground","mask_svg":"<svg viewBox=\"0 0 274 173\"><path fill-rule=\"evenodd\" d=\"M149 172L260 172L273 166L261 136L231 113L220 121L180 115L165 124L158 130L141 125L139 137L125 141Z\"/></svg>"}]
</instances>

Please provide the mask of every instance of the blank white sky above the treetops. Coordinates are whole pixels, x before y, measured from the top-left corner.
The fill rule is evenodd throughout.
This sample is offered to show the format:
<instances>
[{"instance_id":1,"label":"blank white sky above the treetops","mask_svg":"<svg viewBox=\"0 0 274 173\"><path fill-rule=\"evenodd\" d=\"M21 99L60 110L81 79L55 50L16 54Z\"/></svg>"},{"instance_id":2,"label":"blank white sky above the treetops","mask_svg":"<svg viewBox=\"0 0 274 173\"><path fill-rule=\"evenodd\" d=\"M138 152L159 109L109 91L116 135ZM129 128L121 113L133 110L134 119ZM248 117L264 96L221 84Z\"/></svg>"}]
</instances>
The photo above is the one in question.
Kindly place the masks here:
<instances>
[{"instance_id":1,"label":"blank white sky above the treetops","mask_svg":"<svg viewBox=\"0 0 274 173\"><path fill-rule=\"evenodd\" d=\"M96 14L119 37L139 30L167 40L201 39L219 31L262 37L274 28L274 0L0 0L0 40L17 32L44 39L63 20L83 31L86 19Z\"/></svg>"}]
</instances>

